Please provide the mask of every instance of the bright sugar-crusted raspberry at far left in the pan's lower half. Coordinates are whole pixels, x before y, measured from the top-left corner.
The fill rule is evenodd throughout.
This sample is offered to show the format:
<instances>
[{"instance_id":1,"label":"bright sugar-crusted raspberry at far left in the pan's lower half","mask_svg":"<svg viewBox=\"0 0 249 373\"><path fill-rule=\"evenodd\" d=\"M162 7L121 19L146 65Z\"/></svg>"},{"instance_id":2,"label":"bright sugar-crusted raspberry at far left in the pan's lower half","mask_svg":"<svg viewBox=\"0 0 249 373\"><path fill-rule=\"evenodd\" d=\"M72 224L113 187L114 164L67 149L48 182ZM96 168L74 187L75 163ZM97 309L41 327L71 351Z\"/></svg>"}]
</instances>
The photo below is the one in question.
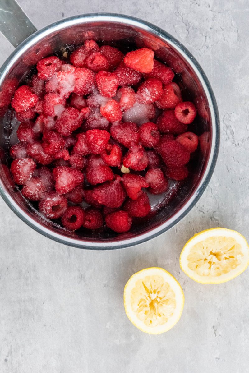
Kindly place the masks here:
<instances>
[{"instance_id":1,"label":"bright sugar-crusted raspberry at far left in the pan's lower half","mask_svg":"<svg viewBox=\"0 0 249 373\"><path fill-rule=\"evenodd\" d=\"M31 158L14 159L10 171L16 184L25 184L31 179L36 164Z\"/></svg>"}]
</instances>

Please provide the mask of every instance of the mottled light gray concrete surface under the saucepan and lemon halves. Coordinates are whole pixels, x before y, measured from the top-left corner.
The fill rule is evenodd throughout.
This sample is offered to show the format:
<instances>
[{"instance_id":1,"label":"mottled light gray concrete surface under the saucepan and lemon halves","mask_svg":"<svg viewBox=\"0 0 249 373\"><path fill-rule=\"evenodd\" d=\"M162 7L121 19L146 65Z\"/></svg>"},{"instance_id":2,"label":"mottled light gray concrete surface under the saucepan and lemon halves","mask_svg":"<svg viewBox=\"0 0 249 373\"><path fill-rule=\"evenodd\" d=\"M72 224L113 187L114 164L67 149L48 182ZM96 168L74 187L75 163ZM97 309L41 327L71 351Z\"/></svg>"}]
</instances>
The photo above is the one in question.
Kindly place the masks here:
<instances>
[{"instance_id":1,"label":"mottled light gray concrete surface under the saucepan and lemon halves","mask_svg":"<svg viewBox=\"0 0 249 373\"><path fill-rule=\"evenodd\" d=\"M166 29L193 53L214 89L221 149L212 180L177 226L146 244L84 251L57 244L0 201L1 373L247 373L249 270L202 286L179 268L193 233L215 226L249 239L249 4L246 0L20 0L37 28L84 12L120 12ZM0 35L0 63L13 48ZM150 336L126 318L123 287L166 268L186 296L179 323Z\"/></svg>"}]
</instances>

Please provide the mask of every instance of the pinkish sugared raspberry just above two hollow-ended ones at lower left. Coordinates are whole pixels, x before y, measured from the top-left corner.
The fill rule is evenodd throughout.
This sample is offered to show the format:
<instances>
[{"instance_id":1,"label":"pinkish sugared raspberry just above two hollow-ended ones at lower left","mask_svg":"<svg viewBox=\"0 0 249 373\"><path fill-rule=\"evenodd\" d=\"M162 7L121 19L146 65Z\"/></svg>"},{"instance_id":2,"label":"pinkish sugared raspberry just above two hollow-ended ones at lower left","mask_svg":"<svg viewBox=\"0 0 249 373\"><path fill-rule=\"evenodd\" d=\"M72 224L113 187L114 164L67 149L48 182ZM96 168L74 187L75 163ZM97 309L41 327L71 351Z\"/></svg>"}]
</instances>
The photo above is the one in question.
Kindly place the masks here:
<instances>
[{"instance_id":1,"label":"pinkish sugared raspberry just above two hollow-ended ones at lower left","mask_svg":"<svg viewBox=\"0 0 249 373\"><path fill-rule=\"evenodd\" d=\"M55 189L59 194L65 194L81 184L84 175L81 171L67 166L59 166L53 169Z\"/></svg>"}]
</instances>

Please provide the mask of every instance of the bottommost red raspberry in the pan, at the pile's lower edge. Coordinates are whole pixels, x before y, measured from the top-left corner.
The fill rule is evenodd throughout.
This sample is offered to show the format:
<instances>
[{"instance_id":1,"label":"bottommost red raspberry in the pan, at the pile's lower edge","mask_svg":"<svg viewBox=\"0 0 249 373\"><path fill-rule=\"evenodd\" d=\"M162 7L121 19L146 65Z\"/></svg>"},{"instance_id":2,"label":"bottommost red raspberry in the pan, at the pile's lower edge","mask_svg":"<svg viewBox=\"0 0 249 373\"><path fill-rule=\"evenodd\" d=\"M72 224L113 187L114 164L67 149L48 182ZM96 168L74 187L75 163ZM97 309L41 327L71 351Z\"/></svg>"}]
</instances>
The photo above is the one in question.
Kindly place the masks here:
<instances>
[{"instance_id":1,"label":"bottommost red raspberry in the pan, at the pile's lower edge","mask_svg":"<svg viewBox=\"0 0 249 373\"><path fill-rule=\"evenodd\" d=\"M117 233L125 233L132 226L132 218L126 211L116 211L105 216L105 224Z\"/></svg>"}]
</instances>

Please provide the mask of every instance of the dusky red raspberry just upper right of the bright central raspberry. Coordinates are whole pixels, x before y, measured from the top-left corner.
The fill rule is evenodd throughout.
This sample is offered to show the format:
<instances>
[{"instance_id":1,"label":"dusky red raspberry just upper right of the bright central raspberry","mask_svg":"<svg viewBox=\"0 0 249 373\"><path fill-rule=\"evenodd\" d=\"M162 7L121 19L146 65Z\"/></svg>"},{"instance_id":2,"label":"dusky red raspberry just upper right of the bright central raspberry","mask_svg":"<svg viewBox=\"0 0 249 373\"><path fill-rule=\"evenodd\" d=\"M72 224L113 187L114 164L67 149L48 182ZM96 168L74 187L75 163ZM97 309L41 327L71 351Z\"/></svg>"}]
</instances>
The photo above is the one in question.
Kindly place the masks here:
<instances>
[{"instance_id":1,"label":"dusky red raspberry just upper right of the bright central raspberry","mask_svg":"<svg viewBox=\"0 0 249 373\"><path fill-rule=\"evenodd\" d=\"M111 137L123 144L126 148L131 147L132 144L138 144L139 133L136 123L124 122L115 123L110 128Z\"/></svg>"}]
</instances>

